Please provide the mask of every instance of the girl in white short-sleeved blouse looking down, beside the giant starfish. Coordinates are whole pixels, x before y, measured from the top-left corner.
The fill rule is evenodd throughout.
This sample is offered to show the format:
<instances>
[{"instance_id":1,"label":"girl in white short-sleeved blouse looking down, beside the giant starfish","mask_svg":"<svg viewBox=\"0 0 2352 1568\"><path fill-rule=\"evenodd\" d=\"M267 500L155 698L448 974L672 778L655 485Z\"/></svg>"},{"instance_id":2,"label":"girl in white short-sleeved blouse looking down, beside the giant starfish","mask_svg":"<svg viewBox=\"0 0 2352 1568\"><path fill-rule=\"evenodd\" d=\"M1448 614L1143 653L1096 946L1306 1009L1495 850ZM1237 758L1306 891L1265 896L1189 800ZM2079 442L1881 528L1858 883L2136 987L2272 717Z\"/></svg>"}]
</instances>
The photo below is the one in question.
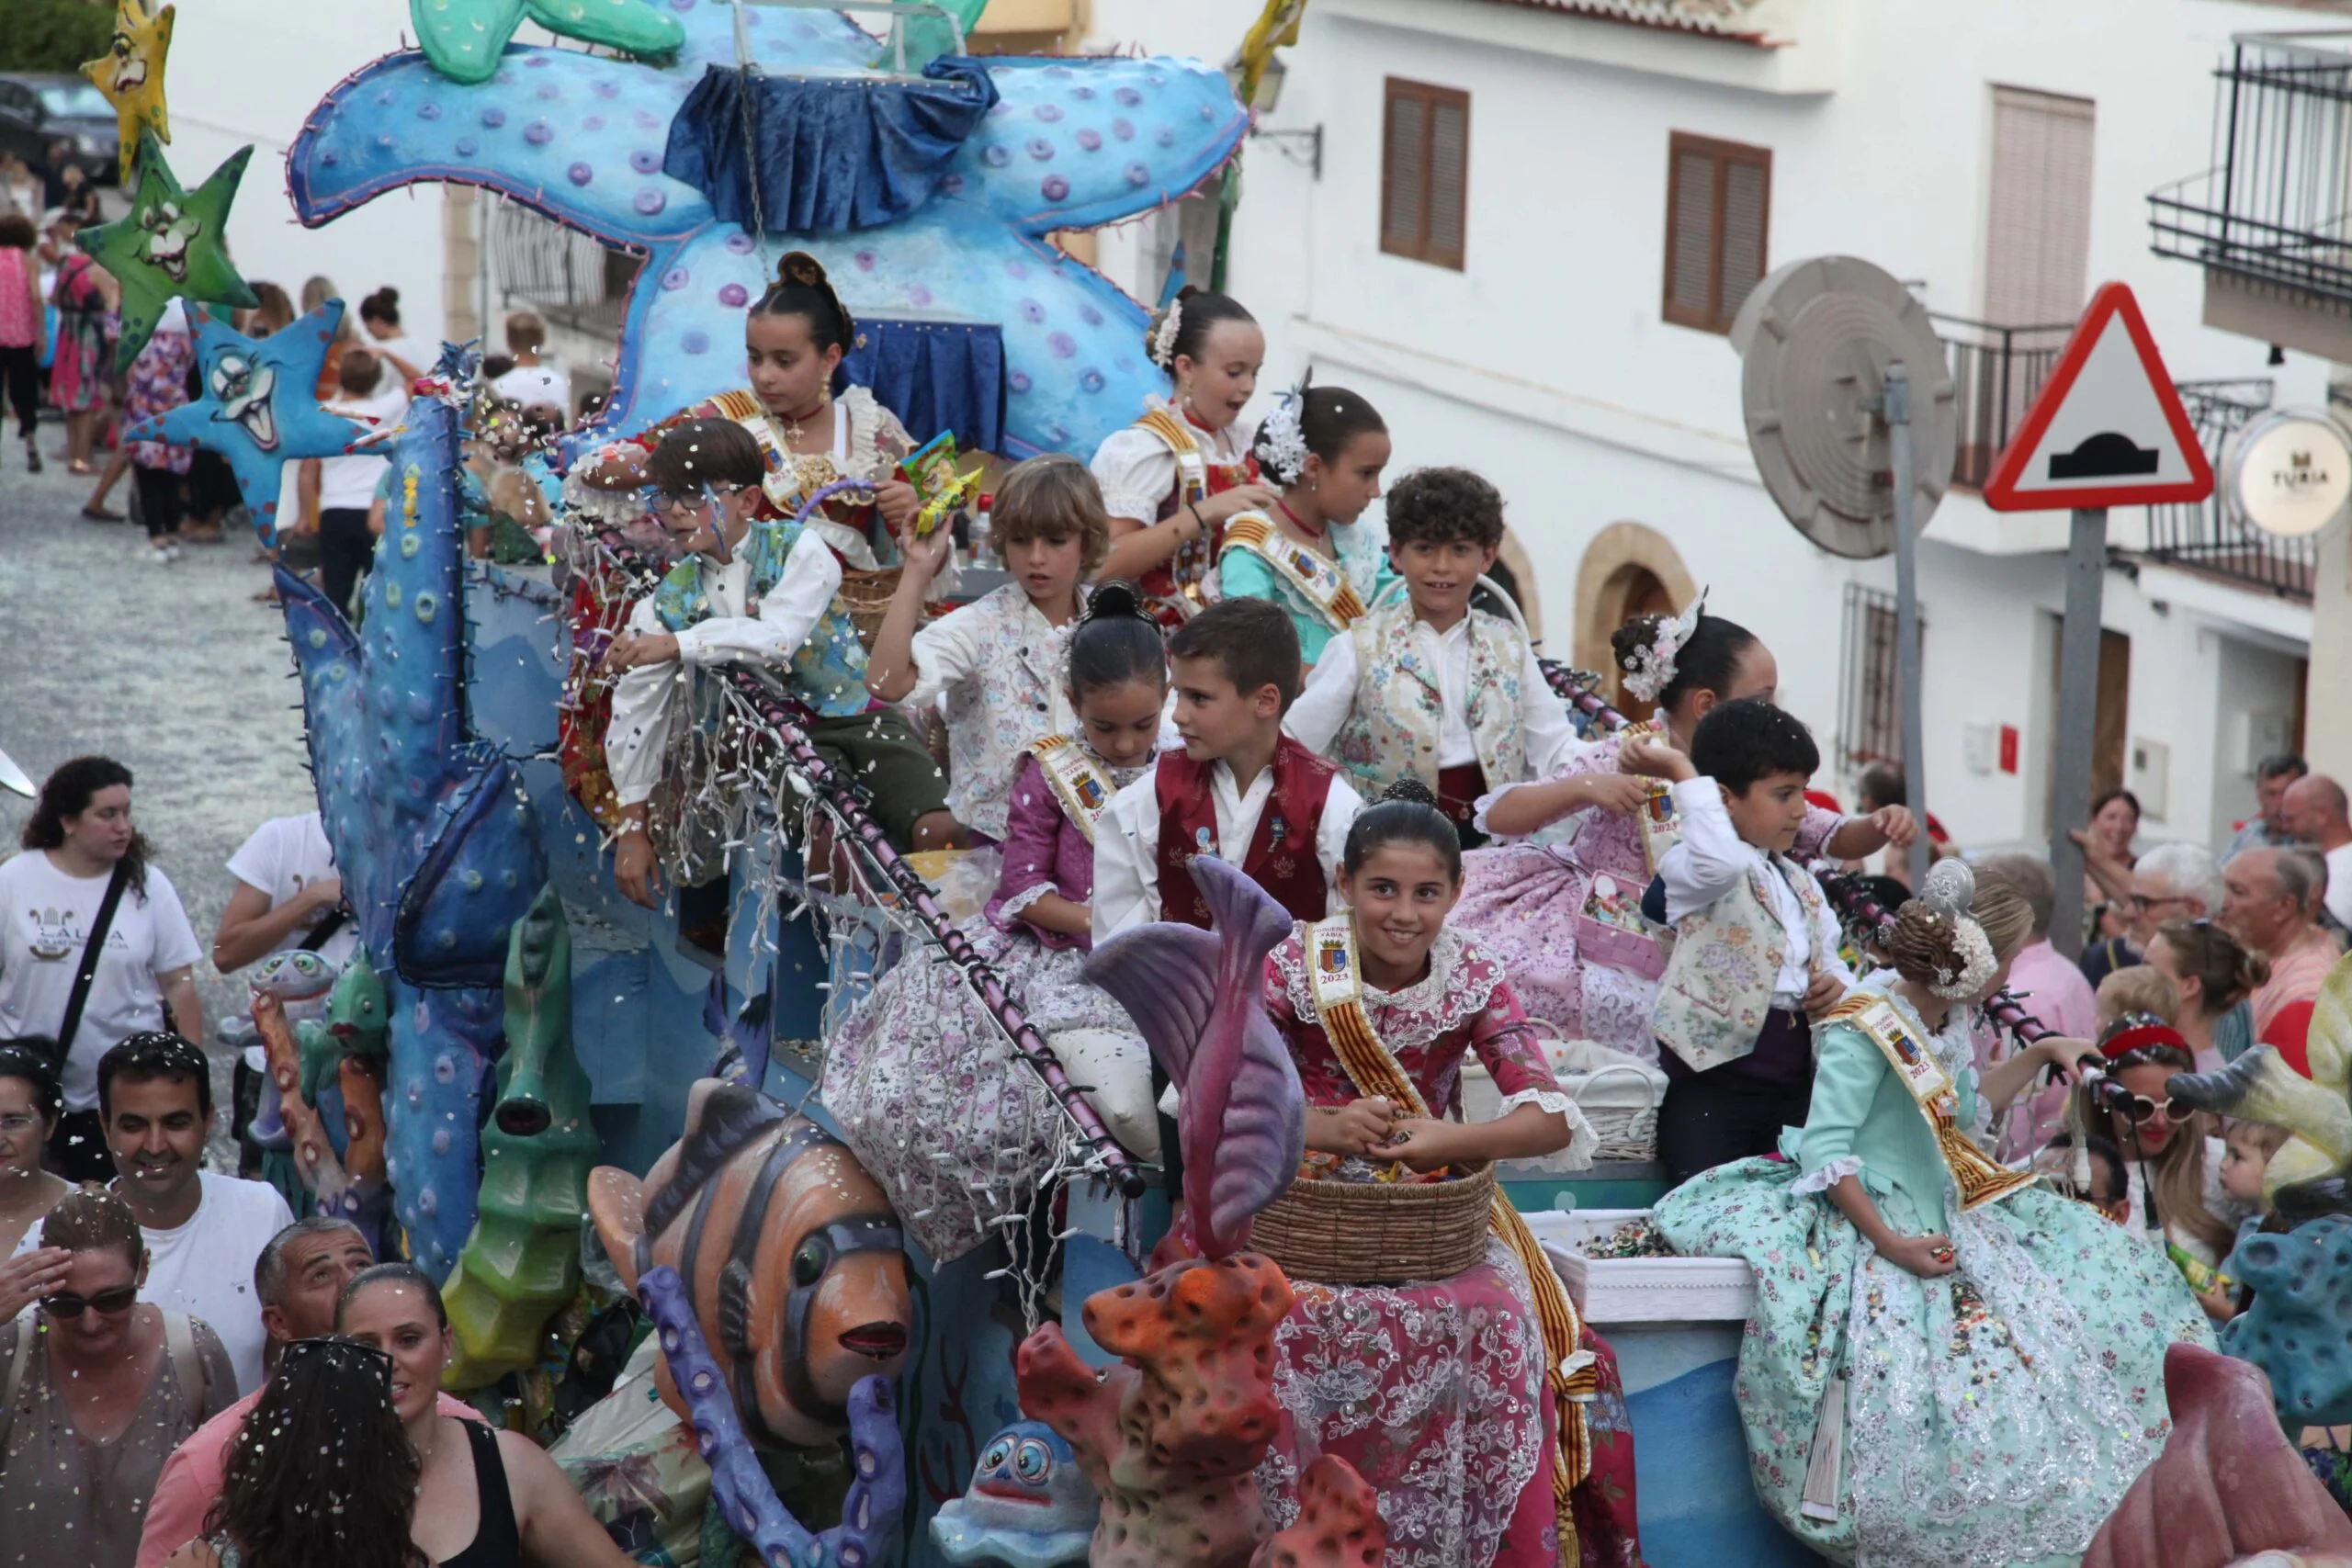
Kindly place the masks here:
<instances>
[{"instance_id":1,"label":"girl in white short-sleeved blouse looking down, beside the giant starfish","mask_svg":"<svg viewBox=\"0 0 2352 1568\"><path fill-rule=\"evenodd\" d=\"M1143 353L1176 395L1145 400L1143 418L1094 454L1112 538L1103 576L1136 578L1174 630L1216 597L1211 569L1225 522L1275 503L1242 425L1265 334L1240 301L1185 287L1152 315Z\"/></svg>"}]
</instances>

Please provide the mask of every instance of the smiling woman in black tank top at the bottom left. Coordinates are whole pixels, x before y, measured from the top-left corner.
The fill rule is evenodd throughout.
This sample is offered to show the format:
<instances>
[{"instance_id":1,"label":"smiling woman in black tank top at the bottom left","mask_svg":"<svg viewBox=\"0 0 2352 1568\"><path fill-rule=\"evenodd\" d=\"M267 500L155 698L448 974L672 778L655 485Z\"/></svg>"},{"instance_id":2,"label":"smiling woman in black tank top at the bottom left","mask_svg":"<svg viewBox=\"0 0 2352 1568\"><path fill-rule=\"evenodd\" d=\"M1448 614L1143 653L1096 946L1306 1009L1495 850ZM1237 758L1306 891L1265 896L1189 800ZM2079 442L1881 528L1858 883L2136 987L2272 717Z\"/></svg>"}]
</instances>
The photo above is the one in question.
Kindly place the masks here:
<instances>
[{"instance_id":1,"label":"smiling woman in black tank top at the bottom left","mask_svg":"<svg viewBox=\"0 0 2352 1568\"><path fill-rule=\"evenodd\" d=\"M416 1265L379 1262L353 1274L336 1302L334 1328L390 1359L393 1413L414 1455L407 1476L416 1497L416 1514L400 1540L416 1559L440 1568L633 1568L539 1443L440 1413L449 1314ZM245 1432L256 1427L259 1420L245 1422ZM313 1568L325 1561L247 1556L242 1568ZM346 1563L334 1559L334 1568Z\"/></svg>"}]
</instances>

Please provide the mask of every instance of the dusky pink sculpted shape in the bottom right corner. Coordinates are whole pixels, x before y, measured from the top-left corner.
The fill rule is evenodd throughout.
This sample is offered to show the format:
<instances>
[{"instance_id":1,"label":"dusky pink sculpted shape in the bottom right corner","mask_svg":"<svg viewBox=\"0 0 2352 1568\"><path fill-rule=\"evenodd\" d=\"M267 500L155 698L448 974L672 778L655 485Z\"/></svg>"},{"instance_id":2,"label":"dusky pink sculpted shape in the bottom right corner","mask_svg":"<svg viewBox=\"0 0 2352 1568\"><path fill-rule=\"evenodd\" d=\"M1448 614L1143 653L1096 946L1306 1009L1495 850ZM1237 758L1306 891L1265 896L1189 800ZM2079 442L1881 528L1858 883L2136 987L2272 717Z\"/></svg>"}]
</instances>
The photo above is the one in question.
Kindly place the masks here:
<instances>
[{"instance_id":1,"label":"dusky pink sculpted shape in the bottom right corner","mask_svg":"<svg viewBox=\"0 0 2352 1568\"><path fill-rule=\"evenodd\" d=\"M2082 1568L2286 1568L2352 1561L2352 1521L2270 1413L2263 1373L2194 1345L2164 1352L2173 1432L2091 1537Z\"/></svg>"}]
</instances>

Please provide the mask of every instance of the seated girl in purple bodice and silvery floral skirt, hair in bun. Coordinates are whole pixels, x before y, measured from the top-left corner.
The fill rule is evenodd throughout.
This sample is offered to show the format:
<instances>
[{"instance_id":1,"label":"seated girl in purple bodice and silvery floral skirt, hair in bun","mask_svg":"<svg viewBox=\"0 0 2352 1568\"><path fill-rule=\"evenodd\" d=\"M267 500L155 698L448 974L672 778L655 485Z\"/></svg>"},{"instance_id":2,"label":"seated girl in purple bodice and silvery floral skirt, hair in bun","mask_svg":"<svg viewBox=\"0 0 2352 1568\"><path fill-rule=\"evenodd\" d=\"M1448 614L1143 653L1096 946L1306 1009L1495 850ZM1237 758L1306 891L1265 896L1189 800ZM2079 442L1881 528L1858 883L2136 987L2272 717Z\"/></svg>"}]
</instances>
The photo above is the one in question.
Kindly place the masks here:
<instances>
[{"instance_id":1,"label":"seated girl in purple bodice and silvery floral skirt, hair in bun","mask_svg":"<svg viewBox=\"0 0 2352 1568\"><path fill-rule=\"evenodd\" d=\"M1160 623L1134 583L1094 590L1061 684L1075 726L1021 748L997 889L964 933L1112 1135L1155 1157L1150 1051L1127 1013L1080 978L1094 950L1096 820L1150 769L1169 686ZM934 1265L995 1234L983 1227L990 1215L1033 1201L1028 1173L1049 1168L1061 1145L1061 1110L1044 1084L1011 1060L962 971L922 954L901 959L835 1030L823 1098ZM983 1213L976 1187L1000 1208Z\"/></svg>"}]
</instances>

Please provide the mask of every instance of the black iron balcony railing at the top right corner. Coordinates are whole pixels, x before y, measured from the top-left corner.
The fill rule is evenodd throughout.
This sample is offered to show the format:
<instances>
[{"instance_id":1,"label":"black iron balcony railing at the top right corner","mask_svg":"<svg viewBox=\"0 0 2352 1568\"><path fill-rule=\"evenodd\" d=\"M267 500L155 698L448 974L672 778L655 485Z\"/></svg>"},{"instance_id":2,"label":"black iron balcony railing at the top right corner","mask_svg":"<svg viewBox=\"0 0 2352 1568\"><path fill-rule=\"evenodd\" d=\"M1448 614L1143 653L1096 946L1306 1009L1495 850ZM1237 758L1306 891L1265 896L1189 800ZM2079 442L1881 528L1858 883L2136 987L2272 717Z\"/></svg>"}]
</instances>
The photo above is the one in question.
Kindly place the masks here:
<instances>
[{"instance_id":1,"label":"black iron balcony railing at the top right corner","mask_svg":"<svg viewBox=\"0 0 2352 1568\"><path fill-rule=\"evenodd\" d=\"M2249 33L2213 78L2213 165L2147 197L2154 252L2352 306L2352 33Z\"/></svg>"}]
</instances>

